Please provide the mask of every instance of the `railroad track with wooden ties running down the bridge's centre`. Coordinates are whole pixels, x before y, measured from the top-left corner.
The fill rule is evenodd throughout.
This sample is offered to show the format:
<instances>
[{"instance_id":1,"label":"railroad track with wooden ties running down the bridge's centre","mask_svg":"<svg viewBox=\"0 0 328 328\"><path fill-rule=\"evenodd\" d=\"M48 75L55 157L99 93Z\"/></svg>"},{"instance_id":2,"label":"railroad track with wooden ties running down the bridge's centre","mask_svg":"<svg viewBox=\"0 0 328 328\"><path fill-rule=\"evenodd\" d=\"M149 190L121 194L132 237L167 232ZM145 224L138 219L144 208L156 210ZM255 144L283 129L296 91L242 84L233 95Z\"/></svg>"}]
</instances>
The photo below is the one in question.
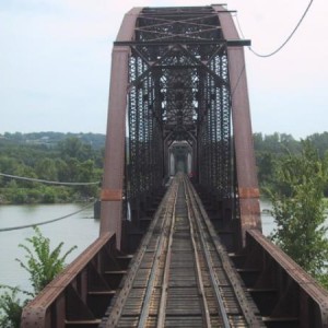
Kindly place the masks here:
<instances>
[{"instance_id":1,"label":"railroad track with wooden ties running down the bridge's centre","mask_svg":"<svg viewBox=\"0 0 328 328\"><path fill-rule=\"evenodd\" d=\"M265 327L186 176L173 180L101 327Z\"/></svg>"}]
</instances>

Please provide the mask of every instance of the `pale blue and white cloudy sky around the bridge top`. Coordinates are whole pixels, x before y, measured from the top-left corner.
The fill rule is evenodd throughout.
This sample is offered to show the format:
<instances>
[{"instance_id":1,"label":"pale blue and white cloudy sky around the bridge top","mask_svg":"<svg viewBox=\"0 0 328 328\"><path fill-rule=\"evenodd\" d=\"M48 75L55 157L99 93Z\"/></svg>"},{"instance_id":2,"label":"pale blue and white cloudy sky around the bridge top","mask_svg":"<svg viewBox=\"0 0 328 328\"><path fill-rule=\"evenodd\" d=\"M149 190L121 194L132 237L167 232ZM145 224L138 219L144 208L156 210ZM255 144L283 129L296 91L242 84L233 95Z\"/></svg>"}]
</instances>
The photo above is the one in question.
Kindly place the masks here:
<instances>
[{"instance_id":1,"label":"pale blue and white cloudy sky around the bridge top","mask_svg":"<svg viewBox=\"0 0 328 328\"><path fill-rule=\"evenodd\" d=\"M260 54L291 34L309 0L227 0ZM0 133L106 133L110 54L133 7L200 0L0 0ZM328 1L314 0L292 39L259 58L245 48L254 132L295 139L328 130ZM242 35L242 34L241 34Z\"/></svg>"}]
</instances>

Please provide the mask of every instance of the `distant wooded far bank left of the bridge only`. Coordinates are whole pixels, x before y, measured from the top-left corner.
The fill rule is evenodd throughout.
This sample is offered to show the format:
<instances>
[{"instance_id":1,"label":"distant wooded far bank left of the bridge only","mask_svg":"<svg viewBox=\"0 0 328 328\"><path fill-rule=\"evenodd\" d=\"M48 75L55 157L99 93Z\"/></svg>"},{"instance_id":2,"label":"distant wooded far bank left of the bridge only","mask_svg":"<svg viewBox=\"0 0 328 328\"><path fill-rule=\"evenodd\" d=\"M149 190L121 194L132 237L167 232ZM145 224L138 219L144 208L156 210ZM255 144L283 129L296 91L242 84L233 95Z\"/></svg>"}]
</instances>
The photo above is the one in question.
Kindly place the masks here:
<instances>
[{"instance_id":1,"label":"distant wooded far bank left of the bridge only","mask_svg":"<svg viewBox=\"0 0 328 328\"><path fill-rule=\"evenodd\" d=\"M58 132L0 136L0 173L62 183L102 179L103 134ZM54 203L97 197L97 185L58 186L0 176L0 203Z\"/></svg>"}]
</instances>

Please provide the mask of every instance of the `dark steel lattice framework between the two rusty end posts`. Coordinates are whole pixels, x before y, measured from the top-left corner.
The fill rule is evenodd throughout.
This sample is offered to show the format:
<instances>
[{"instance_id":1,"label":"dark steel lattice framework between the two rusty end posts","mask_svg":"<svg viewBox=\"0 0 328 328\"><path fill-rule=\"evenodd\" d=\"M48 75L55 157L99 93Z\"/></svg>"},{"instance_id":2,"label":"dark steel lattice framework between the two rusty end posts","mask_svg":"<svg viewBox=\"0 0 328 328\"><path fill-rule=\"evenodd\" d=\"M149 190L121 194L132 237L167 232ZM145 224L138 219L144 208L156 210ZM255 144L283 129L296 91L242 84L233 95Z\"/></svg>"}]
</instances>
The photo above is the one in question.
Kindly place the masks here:
<instances>
[{"instance_id":1,"label":"dark steel lattice framework between the two rusty end posts","mask_svg":"<svg viewBox=\"0 0 328 328\"><path fill-rule=\"evenodd\" d=\"M165 148L187 141L198 153L199 181L234 197L227 51L211 7L144 9L129 43L130 199L162 184Z\"/></svg>"}]
</instances>

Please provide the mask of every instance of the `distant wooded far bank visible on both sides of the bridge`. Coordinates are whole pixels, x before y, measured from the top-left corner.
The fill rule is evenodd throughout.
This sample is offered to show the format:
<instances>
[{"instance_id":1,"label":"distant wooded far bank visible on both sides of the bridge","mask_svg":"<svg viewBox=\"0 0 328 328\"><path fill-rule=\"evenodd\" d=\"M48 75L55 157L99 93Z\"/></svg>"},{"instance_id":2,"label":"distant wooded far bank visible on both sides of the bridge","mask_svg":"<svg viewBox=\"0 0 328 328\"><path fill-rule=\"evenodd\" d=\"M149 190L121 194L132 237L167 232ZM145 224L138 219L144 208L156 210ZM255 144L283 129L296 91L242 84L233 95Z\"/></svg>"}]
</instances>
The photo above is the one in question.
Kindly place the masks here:
<instances>
[{"instance_id":1,"label":"distant wooded far bank visible on both sides of the bridge","mask_svg":"<svg viewBox=\"0 0 328 328\"><path fill-rule=\"evenodd\" d=\"M328 132L306 138L324 159ZM278 163L297 154L302 142L288 133L254 133L261 194L277 188ZM102 179L105 134L33 132L0 134L0 173L46 180L87 183ZM0 176L0 203L66 202L96 197L96 186L62 187ZM324 194L328 197L328 185Z\"/></svg>"}]
</instances>

